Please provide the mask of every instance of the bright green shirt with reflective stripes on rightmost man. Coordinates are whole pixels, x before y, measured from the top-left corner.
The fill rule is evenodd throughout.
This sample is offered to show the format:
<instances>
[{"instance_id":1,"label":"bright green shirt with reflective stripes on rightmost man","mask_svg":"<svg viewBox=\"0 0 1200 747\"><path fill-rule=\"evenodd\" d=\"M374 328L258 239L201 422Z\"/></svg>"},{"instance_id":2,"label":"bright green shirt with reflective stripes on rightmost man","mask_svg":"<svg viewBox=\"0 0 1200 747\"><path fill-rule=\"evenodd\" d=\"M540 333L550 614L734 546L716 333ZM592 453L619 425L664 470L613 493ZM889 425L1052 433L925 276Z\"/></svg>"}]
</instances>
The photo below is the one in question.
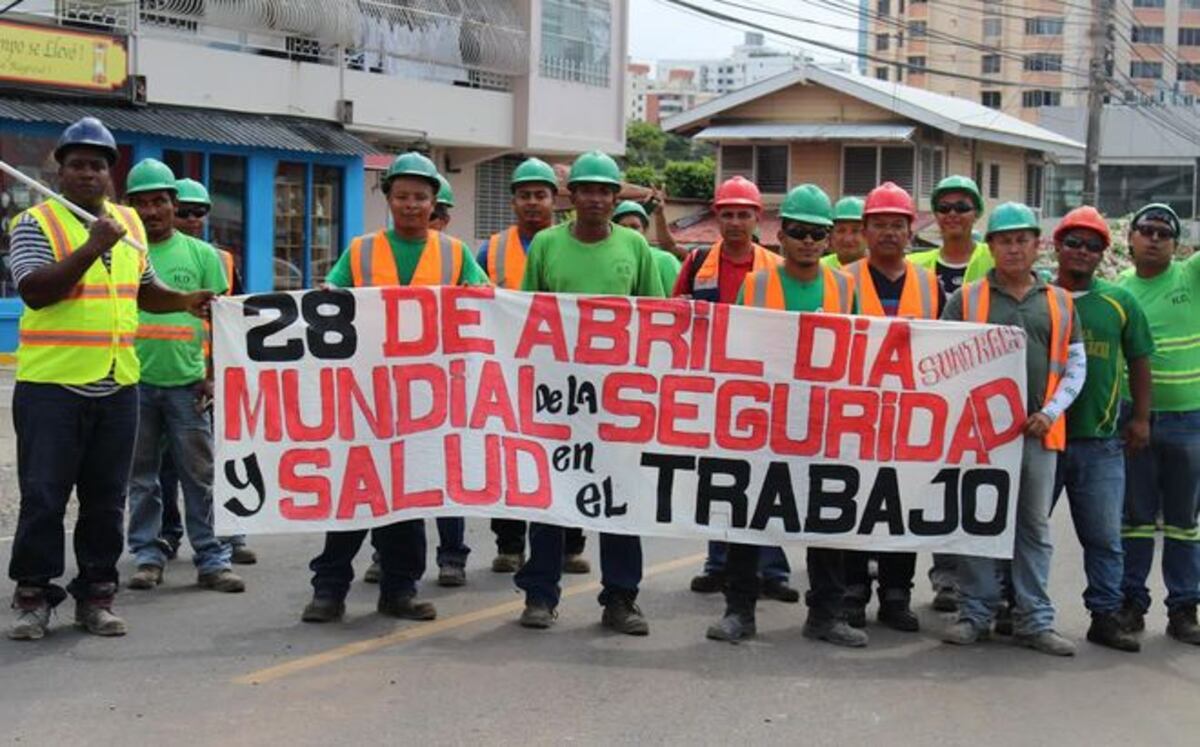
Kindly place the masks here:
<instances>
[{"instance_id":1,"label":"bright green shirt with reflective stripes on rightmost man","mask_svg":"<svg viewBox=\"0 0 1200 747\"><path fill-rule=\"evenodd\" d=\"M1117 285L1141 304L1154 337L1151 410L1200 410L1200 252L1148 280L1128 269Z\"/></svg>"}]
</instances>

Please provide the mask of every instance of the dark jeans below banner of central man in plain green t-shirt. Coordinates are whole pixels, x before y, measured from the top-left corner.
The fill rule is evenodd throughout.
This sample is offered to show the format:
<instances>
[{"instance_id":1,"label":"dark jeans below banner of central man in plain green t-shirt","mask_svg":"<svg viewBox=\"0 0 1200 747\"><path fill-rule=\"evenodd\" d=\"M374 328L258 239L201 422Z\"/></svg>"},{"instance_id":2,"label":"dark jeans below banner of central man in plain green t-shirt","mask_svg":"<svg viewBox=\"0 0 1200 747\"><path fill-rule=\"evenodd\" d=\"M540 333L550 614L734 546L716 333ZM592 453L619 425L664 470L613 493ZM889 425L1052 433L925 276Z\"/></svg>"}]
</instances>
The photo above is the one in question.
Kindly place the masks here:
<instances>
[{"instance_id":1,"label":"dark jeans below banner of central man in plain green t-shirt","mask_svg":"<svg viewBox=\"0 0 1200 747\"><path fill-rule=\"evenodd\" d=\"M514 581L526 599L558 606L562 597L565 530L550 524L529 525L529 560ZM637 598L642 582L642 539L629 534L600 534L600 604L617 594Z\"/></svg>"}]
</instances>

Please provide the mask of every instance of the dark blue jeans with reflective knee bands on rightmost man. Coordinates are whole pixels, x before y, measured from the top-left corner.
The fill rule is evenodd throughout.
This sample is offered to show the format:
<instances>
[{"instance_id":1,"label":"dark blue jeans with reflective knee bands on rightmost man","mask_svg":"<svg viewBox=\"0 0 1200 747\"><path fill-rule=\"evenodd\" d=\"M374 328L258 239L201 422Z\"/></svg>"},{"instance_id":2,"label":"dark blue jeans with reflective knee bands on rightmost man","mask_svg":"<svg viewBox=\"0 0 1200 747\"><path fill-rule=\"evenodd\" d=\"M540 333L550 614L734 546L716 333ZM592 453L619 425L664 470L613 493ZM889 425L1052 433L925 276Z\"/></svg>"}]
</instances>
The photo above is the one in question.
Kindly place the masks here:
<instances>
[{"instance_id":1,"label":"dark blue jeans with reflective knee bands on rightmost man","mask_svg":"<svg viewBox=\"0 0 1200 747\"><path fill-rule=\"evenodd\" d=\"M1122 591L1126 602L1146 611L1146 579L1154 563L1154 522L1163 515L1163 581L1166 609L1200 600L1200 411L1156 412L1150 447L1126 459Z\"/></svg>"}]
</instances>

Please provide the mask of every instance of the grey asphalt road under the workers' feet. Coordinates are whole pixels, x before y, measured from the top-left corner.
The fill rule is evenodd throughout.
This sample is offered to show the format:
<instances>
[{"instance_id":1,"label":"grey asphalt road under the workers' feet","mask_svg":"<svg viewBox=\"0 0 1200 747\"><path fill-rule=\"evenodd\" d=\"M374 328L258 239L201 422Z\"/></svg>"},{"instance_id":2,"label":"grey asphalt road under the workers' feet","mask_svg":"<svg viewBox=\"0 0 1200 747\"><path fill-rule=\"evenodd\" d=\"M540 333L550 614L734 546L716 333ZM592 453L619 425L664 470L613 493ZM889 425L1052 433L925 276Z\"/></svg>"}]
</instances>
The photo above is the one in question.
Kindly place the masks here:
<instances>
[{"instance_id":1,"label":"grey asphalt road under the workers' feet","mask_svg":"<svg viewBox=\"0 0 1200 747\"><path fill-rule=\"evenodd\" d=\"M556 628L524 631L516 625L521 598L509 576L487 569L491 537L474 520L468 521L475 548L469 585L425 586L438 605L437 621L382 618L373 611L374 587L355 584L344 623L302 625L306 563L319 538L257 538L262 561L245 569L245 594L197 588L191 563L181 560L158 590L122 591L118 609L130 623L126 638L71 629L68 603L47 639L0 640L0 740L1200 742L1200 649L1164 638L1160 606L1139 655L1084 641L1081 558L1066 510L1056 515L1055 528L1060 551L1052 591L1060 629L1079 641L1073 659L1003 640L973 649L938 643L946 618L929 610L924 584L917 592L923 632L902 634L872 623L866 650L803 639L803 606L776 602L761 605L756 641L707 641L704 628L719 615L720 600L686 588L703 546L661 539L646 543L641 604L650 620L648 638L599 627L595 574L568 576ZM5 564L10 548L0 540ZM589 542L594 564L595 550ZM803 551L790 555L803 585ZM131 569L122 563L122 574Z\"/></svg>"}]
</instances>

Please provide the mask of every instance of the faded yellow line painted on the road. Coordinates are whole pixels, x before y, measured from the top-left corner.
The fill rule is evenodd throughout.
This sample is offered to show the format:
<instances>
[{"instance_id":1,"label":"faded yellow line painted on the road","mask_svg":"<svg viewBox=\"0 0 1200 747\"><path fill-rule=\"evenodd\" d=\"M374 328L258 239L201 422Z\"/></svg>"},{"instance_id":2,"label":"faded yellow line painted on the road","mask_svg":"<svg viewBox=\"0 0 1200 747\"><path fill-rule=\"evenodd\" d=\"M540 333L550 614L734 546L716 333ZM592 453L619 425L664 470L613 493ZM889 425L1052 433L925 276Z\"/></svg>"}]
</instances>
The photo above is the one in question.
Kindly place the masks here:
<instances>
[{"instance_id":1,"label":"faded yellow line painted on the road","mask_svg":"<svg viewBox=\"0 0 1200 747\"><path fill-rule=\"evenodd\" d=\"M650 566L642 572L642 578L649 578L653 575L659 575L662 573L670 573L671 570L677 570L679 568L685 568L688 566L694 566L697 562L704 560L704 554L689 555L686 557L677 557L671 561L658 563ZM583 584L576 584L568 586L563 590L563 598L575 597L578 594L586 594L590 591L596 591L600 588L600 581L587 581ZM397 644L403 644L413 640L420 640L422 638L431 638L439 633L445 633L446 631L454 631L464 626L469 626L476 622L484 622L485 620L494 620L497 617L504 617L505 615L514 615L524 609L524 600L505 602L504 604L497 604L494 606L487 606L481 610L475 610L473 612L463 612L461 615L455 615L454 617L446 617L445 620L437 620L427 625L420 625L415 627L403 628L401 631L395 631L388 633L386 635L379 635L377 638L368 638L366 640L356 640L349 644L343 644L329 651L323 651L320 653L313 653L311 656L302 656L290 662L284 662L282 664L276 664L275 667L268 667L265 669L259 669L250 674L240 675L233 679L234 685L263 685L265 682L274 682L275 680L282 680L283 677L306 671L308 669L316 669L317 667L324 667L325 664L332 664L342 659L348 659L352 656L358 656L360 653L368 653L371 651L378 651L379 649L386 649L388 646L395 646Z\"/></svg>"}]
</instances>

